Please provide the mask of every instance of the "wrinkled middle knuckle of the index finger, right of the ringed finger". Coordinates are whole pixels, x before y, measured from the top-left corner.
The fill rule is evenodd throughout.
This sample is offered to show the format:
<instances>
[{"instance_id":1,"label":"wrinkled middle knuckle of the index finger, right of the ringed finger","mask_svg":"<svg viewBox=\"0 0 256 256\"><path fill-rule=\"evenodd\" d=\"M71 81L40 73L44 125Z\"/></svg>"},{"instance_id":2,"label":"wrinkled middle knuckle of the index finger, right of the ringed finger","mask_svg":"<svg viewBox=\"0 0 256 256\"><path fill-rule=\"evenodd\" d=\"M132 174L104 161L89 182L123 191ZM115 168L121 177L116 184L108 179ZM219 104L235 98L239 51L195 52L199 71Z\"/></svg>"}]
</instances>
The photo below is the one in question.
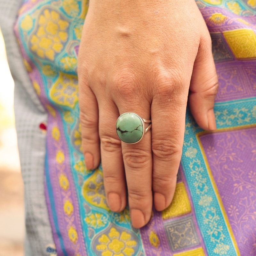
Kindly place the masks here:
<instances>
[{"instance_id":1,"label":"wrinkled middle knuckle of the index finger, right of the ringed finger","mask_svg":"<svg viewBox=\"0 0 256 256\"><path fill-rule=\"evenodd\" d=\"M173 140L155 140L152 141L152 152L158 159L170 161L170 157L181 155L182 145Z\"/></svg>"}]
</instances>

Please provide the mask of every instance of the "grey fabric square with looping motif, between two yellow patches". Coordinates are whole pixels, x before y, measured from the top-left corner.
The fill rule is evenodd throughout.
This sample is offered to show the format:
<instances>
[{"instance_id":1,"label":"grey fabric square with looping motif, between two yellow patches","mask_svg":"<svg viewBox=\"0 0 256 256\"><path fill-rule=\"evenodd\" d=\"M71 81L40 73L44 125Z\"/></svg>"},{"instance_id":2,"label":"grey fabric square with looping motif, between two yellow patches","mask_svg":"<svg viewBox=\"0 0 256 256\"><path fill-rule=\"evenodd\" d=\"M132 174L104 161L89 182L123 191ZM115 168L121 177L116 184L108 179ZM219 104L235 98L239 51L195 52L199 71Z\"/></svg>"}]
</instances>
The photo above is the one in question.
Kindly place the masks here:
<instances>
[{"instance_id":1,"label":"grey fabric square with looping motif, between two yellow patches","mask_svg":"<svg viewBox=\"0 0 256 256\"><path fill-rule=\"evenodd\" d=\"M192 216L165 222L164 230L173 252L200 244Z\"/></svg>"}]
</instances>

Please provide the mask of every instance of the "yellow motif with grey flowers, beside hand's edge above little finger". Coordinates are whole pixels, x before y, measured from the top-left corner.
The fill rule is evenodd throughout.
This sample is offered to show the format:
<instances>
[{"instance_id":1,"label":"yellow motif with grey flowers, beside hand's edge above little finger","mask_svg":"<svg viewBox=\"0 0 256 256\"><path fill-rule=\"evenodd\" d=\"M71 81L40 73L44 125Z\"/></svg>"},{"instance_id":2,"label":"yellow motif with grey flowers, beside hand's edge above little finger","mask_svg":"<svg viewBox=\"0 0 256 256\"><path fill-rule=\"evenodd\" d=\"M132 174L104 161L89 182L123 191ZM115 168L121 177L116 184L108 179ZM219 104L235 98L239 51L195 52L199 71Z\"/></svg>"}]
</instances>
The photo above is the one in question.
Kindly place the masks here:
<instances>
[{"instance_id":1,"label":"yellow motif with grey flowers, beside hand's edge above little finger","mask_svg":"<svg viewBox=\"0 0 256 256\"><path fill-rule=\"evenodd\" d=\"M77 76L60 72L60 76L52 85L49 94L58 105L74 108L78 101Z\"/></svg>"}]
</instances>

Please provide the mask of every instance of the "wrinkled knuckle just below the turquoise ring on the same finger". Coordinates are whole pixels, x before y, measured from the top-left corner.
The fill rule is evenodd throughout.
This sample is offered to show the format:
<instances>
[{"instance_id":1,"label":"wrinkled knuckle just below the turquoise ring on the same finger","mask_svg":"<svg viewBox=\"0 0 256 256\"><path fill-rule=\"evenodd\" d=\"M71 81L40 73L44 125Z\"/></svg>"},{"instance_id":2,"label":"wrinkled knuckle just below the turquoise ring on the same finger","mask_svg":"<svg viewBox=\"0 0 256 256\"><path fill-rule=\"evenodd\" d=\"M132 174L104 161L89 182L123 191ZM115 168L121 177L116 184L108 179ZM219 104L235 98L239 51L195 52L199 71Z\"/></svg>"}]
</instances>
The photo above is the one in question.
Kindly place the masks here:
<instances>
[{"instance_id":1,"label":"wrinkled knuckle just below the turquoise ring on the same finger","mask_svg":"<svg viewBox=\"0 0 256 256\"><path fill-rule=\"evenodd\" d=\"M150 155L143 149L123 152L126 166L130 169L144 169L149 166Z\"/></svg>"}]
</instances>

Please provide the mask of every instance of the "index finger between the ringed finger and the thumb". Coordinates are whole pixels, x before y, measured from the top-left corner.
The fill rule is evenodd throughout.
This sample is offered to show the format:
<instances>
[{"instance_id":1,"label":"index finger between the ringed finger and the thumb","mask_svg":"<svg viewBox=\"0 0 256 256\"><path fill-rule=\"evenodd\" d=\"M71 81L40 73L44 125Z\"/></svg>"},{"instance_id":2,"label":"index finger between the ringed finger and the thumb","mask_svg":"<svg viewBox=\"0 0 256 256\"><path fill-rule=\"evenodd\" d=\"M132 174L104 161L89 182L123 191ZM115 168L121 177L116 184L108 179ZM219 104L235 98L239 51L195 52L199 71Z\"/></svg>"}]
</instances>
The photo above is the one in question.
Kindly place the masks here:
<instances>
[{"instance_id":1,"label":"index finger between the ringed finger and the thumb","mask_svg":"<svg viewBox=\"0 0 256 256\"><path fill-rule=\"evenodd\" d=\"M153 194L157 211L172 202L182 152L189 79L184 82L177 77L159 77L151 105Z\"/></svg>"}]
</instances>

